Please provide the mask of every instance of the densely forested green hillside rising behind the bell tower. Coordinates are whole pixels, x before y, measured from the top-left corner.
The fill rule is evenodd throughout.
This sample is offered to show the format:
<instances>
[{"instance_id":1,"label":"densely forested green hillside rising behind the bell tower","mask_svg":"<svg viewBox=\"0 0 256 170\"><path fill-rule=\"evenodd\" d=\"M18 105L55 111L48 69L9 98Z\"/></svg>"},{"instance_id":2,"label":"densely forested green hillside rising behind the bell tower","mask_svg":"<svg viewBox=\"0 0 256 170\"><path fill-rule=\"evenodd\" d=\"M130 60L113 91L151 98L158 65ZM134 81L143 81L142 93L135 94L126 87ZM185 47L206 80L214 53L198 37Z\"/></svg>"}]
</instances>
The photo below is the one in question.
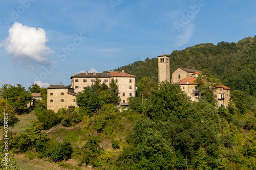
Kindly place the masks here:
<instances>
[{"instance_id":1,"label":"densely forested green hillside rising behind the bell tower","mask_svg":"<svg viewBox=\"0 0 256 170\"><path fill-rule=\"evenodd\" d=\"M159 54L161 55L161 54ZM243 90L256 95L256 36L236 42L198 44L181 51L173 51L170 56L170 73L177 68L209 70L231 90ZM142 77L158 81L158 60L156 58L136 61L121 66L114 71L121 71L137 76L136 83Z\"/></svg>"}]
</instances>

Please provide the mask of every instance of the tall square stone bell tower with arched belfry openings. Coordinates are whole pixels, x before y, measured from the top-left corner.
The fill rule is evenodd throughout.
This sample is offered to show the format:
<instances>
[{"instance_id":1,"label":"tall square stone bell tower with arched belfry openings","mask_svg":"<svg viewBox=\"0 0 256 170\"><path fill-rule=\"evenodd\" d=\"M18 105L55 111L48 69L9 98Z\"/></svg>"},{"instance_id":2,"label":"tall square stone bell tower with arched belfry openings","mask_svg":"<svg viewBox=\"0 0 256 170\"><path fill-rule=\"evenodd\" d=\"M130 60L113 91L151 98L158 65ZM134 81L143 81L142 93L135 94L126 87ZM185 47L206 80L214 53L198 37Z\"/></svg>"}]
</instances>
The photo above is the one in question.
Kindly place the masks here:
<instances>
[{"instance_id":1,"label":"tall square stone bell tower with arched belfry openings","mask_svg":"<svg viewBox=\"0 0 256 170\"><path fill-rule=\"evenodd\" d=\"M170 57L163 54L158 56L158 82L170 82Z\"/></svg>"}]
</instances>

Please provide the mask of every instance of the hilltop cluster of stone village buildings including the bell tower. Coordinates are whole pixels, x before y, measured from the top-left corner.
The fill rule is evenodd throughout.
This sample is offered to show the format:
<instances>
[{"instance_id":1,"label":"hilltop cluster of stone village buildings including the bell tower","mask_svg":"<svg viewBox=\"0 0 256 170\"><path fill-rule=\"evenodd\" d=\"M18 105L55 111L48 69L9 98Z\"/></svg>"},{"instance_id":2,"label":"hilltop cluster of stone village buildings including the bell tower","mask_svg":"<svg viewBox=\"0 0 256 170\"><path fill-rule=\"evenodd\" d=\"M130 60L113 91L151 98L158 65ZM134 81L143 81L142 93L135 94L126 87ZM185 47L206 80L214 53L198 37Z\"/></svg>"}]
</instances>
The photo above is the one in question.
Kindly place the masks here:
<instances>
[{"instance_id":1,"label":"hilltop cluster of stone village buildings including the bell tower","mask_svg":"<svg viewBox=\"0 0 256 170\"><path fill-rule=\"evenodd\" d=\"M169 56L163 54L158 56L158 82L170 82L170 62ZM200 70L193 70L187 68L178 68L172 74L172 83L179 84L181 90L191 98L192 101L198 102L201 94L197 90L197 85L194 81L202 75ZM109 72L82 72L77 75L71 76L71 85L64 86L50 85L47 89L47 109L58 111L60 108L79 107L76 102L78 92L81 92L84 87L91 86L96 78L109 86L111 79L114 79L119 89L120 106L129 105L127 99L131 96L136 96L135 78L136 76L130 75L122 71ZM216 106L228 106L230 99L230 88L223 85L216 85L214 87L214 98Z\"/></svg>"}]
</instances>

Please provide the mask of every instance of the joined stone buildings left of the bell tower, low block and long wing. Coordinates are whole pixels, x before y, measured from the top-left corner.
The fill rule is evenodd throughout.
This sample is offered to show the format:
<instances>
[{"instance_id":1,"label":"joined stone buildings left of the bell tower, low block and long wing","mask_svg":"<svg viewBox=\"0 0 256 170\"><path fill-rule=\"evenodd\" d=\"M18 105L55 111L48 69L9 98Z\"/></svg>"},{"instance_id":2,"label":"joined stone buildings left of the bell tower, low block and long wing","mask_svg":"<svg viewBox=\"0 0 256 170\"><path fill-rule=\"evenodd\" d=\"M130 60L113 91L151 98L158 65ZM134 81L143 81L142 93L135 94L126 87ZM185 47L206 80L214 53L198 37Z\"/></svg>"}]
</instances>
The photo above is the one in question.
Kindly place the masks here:
<instances>
[{"instance_id":1,"label":"joined stone buildings left of the bell tower, low block and long wing","mask_svg":"<svg viewBox=\"0 0 256 170\"><path fill-rule=\"evenodd\" d=\"M129 105L127 99L130 96L135 96L135 78L136 76L127 74L122 71L109 72L81 72L71 76L71 87L63 85L50 85L47 89L47 109L58 111L60 108L78 107L76 96L84 87L91 86L96 78L101 83L110 85L112 79L118 85L120 105Z\"/></svg>"}]
</instances>

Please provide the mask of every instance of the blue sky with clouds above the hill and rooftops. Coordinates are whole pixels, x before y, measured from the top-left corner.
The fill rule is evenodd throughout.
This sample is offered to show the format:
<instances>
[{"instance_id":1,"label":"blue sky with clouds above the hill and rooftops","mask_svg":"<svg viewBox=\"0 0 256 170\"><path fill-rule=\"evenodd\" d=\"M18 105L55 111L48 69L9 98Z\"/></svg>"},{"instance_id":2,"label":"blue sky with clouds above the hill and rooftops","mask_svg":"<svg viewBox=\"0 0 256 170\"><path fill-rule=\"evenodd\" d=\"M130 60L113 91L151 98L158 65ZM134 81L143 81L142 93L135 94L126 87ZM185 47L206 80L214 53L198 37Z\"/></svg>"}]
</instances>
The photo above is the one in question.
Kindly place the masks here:
<instances>
[{"instance_id":1,"label":"blue sky with clouds above the hill and rooftops","mask_svg":"<svg viewBox=\"0 0 256 170\"><path fill-rule=\"evenodd\" d=\"M252 0L2 0L0 86L69 85L73 73L237 42L255 35L255 7Z\"/></svg>"}]
</instances>

